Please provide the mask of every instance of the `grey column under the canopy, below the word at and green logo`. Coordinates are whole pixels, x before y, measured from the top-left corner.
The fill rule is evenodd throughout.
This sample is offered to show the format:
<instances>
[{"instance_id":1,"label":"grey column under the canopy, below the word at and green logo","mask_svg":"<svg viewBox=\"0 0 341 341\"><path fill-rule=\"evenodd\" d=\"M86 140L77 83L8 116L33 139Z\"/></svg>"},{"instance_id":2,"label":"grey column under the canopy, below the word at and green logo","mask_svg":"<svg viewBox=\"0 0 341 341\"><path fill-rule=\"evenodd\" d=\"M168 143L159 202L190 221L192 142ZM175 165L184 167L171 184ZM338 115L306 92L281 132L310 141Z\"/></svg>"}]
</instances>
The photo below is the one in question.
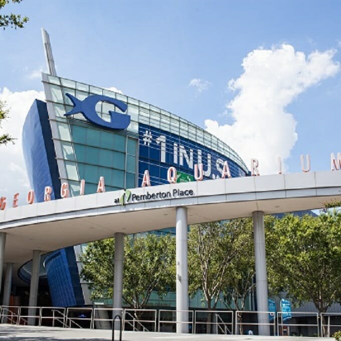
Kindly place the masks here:
<instances>
[{"instance_id":1,"label":"grey column under the canopy, below the word at and green logo","mask_svg":"<svg viewBox=\"0 0 341 341\"><path fill-rule=\"evenodd\" d=\"M123 286L123 261L124 261L124 233L115 233L115 253L114 253L114 295L113 308L122 309L122 286ZM114 310L115 315L122 317L121 310ZM115 321L115 339L119 337L120 323Z\"/></svg>"}]
</instances>

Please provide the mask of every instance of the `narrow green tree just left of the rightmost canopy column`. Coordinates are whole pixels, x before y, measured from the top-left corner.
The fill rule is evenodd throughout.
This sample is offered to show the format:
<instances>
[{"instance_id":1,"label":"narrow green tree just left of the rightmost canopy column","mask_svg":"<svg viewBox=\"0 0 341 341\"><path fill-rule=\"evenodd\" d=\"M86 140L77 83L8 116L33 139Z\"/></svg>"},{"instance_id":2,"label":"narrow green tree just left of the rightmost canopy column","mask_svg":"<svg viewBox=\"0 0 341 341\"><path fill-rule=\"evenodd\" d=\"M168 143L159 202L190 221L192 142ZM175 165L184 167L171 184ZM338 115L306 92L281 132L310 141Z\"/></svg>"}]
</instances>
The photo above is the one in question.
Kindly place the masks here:
<instances>
[{"instance_id":1,"label":"narrow green tree just left of the rightmost canopy column","mask_svg":"<svg viewBox=\"0 0 341 341\"><path fill-rule=\"evenodd\" d=\"M245 303L255 288L254 283L255 256L253 246L253 224L250 218L236 219L239 225L240 234L236 241L238 249L237 257L234 257L228 266L228 276L226 276L223 287L223 304L227 309L245 309ZM243 314L238 313L238 319L243 321ZM243 324L239 324L239 333L244 334Z\"/></svg>"}]
</instances>

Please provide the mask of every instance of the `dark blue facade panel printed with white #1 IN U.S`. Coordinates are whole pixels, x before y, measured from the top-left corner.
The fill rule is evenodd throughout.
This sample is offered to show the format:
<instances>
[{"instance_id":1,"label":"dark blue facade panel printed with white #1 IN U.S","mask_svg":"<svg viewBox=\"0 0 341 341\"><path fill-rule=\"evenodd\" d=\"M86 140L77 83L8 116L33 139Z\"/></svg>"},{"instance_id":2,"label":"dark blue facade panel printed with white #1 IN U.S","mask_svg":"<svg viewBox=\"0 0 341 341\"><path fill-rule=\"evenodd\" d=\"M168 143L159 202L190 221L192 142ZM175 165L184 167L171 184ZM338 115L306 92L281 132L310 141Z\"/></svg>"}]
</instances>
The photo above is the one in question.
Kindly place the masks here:
<instances>
[{"instance_id":1,"label":"dark blue facade panel printed with white #1 IN U.S","mask_svg":"<svg viewBox=\"0 0 341 341\"><path fill-rule=\"evenodd\" d=\"M151 185L161 185L167 182L170 166L193 176L194 165L200 163L204 165L204 179L220 178L224 161L228 161L232 177L247 175L236 162L223 154L177 134L139 123L138 137L139 184L144 170L149 171Z\"/></svg>"}]
</instances>

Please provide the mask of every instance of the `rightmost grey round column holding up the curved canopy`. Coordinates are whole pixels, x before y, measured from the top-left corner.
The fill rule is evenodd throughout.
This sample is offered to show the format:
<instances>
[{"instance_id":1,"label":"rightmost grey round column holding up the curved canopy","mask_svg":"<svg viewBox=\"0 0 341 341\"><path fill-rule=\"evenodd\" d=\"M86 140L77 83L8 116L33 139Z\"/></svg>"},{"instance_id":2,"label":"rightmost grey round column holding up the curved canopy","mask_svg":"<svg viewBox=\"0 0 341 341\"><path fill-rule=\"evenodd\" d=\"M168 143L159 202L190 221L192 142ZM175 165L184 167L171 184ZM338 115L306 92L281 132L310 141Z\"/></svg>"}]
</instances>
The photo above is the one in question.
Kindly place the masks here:
<instances>
[{"instance_id":1,"label":"rightmost grey round column holding up the curved canopy","mask_svg":"<svg viewBox=\"0 0 341 341\"><path fill-rule=\"evenodd\" d=\"M268 311L268 280L266 273L265 260L265 232L264 232L264 213L256 211L252 213L253 217L253 239L255 248L256 263L256 292L257 292L257 310ZM269 323L268 313L258 312L258 323ZM269 325L258 325L259 335L269 335Z\"/></svg>"}]
</instances>

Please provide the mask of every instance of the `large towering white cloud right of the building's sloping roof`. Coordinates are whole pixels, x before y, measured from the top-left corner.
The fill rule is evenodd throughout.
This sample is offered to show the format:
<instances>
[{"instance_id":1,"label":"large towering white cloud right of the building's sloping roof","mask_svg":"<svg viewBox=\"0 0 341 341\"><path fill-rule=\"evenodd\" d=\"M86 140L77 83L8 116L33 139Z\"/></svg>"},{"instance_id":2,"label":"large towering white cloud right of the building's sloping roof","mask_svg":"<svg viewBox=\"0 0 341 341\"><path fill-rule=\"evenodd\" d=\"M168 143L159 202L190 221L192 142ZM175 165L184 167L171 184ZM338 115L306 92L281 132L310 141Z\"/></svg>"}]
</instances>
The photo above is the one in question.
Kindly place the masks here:
<instances>
[{"instance_id":1,"label":"large towering white cloud right of the building's sloping roof","mask_svg":"<svg viewBox=\"0 0 341 341\"><path fill-rule=\"evenodd\" d=\"M297 140L296 120L285 108L308 87L339 71L335 52L314 51L306 57L285 44L253 50L243 60L242 75L229 82L230 89L238 91L227 104L233 124L207 119L206 129L235 149L249 167L255 157L261 174L276 173L277 156L285 161Z\"/></svg>"}]
</instances>

